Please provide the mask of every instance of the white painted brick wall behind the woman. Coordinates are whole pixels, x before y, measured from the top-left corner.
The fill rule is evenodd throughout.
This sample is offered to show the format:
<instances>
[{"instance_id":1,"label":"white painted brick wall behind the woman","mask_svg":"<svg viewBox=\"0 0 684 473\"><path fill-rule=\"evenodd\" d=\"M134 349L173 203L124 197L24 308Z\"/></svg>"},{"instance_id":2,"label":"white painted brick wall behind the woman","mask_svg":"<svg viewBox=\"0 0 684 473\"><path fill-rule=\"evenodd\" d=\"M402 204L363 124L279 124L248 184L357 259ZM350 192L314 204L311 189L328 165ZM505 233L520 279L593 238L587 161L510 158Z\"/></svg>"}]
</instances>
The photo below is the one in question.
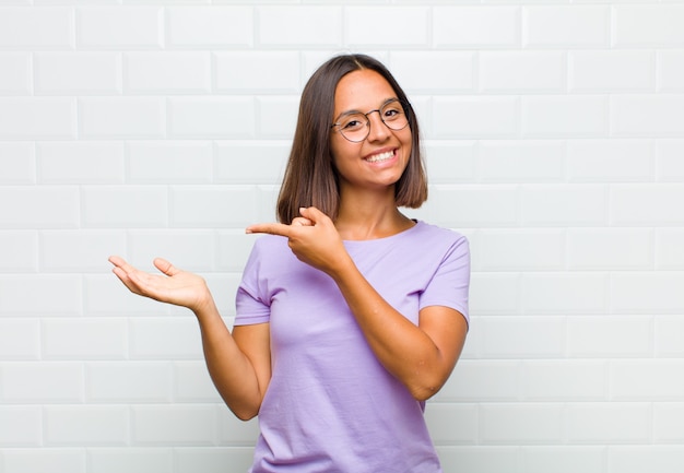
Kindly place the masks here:
<instances>
[{"instance_id":1,"label":"white painted brick wall behind the woman","mask_svg":"<svg viewBox=\"0 0 684 473\"><path fill-rule=\"evenodd\" d=\"M514 4L515 3L515 4ZM246 471L185 310L226 322L298 94L386 61L431 200L472 243L472 326L427 407L445 473L684 471L684 2L0 2L0 473Z\"/></svg>"}]
</instances>

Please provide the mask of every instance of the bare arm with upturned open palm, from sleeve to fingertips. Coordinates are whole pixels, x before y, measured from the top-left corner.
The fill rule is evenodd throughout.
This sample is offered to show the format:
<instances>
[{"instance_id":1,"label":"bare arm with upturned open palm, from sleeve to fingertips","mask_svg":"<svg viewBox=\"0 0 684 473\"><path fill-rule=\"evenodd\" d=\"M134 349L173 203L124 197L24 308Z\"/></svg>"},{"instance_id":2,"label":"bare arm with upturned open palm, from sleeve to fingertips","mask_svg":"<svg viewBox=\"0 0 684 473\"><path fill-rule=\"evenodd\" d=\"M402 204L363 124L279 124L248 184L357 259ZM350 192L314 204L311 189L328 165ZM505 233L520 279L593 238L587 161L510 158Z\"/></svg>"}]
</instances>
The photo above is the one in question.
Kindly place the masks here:
<instances>
[{"instance_id":1,"label":"bare arm with upturned open palm, from sleeve to fingertips","mask_svg":"<svg viewBox=\"0 0 684 473\"><path fill-rule=\"evenodd\" d=\"M231 334L201 276L181 271L161 258L150 274L111 257L114 273L132 293L187 307L199 321L209 374L231 411L244 421L259 413L271 379L269 324L236 327Z\"/></svg>"}]
</instances>

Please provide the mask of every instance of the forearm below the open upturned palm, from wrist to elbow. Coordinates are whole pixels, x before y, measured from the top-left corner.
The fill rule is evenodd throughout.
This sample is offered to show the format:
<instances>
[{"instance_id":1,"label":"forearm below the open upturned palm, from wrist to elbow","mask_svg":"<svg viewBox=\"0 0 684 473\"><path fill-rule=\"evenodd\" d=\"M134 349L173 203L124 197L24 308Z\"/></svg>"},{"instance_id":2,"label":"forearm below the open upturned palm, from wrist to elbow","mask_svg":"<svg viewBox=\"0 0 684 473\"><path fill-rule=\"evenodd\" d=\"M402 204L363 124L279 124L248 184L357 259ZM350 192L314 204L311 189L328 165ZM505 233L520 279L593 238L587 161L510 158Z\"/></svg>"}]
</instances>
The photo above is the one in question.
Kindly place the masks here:
<instances>
[{"instance_id":1,"label":"forearm below the open upturned palm, from wrist to elbow","mask_svg":"<svg viewBox=\"0 0 684 473\"><path fill-rule=\"evenodd\" d=\"M213 301L196 310L209 374L227 406L246 421L259 412L261 390L256 370L221 318Z\"/></svg>"}]
</instances>

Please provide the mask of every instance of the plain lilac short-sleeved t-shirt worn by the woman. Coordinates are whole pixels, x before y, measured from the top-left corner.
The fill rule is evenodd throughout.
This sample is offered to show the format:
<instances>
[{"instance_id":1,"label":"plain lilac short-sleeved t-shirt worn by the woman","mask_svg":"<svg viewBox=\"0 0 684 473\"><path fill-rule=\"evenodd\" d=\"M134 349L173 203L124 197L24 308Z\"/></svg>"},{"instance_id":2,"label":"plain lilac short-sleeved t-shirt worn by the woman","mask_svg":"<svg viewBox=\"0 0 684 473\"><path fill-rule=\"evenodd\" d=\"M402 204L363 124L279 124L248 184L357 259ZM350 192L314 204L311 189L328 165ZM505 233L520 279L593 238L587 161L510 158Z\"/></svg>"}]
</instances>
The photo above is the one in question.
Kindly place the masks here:
<instances>
[{"instance_id":1,"label":"plain lilac short-sleeved t-shirt worn by the woman","mask_svg":"<svg viewBox=\"0 0 684 473\"><path fill-rule=\"evenodd\" d=\"M417 222L397 235L344 241L375 289L413 323L427 306L468 320L464 236ZM370 351L338 286L262 236L236 297L236 326L270 323L272 378L259 411L252 473L439 473L424 403Z\"/></svg>"}]
</instances>

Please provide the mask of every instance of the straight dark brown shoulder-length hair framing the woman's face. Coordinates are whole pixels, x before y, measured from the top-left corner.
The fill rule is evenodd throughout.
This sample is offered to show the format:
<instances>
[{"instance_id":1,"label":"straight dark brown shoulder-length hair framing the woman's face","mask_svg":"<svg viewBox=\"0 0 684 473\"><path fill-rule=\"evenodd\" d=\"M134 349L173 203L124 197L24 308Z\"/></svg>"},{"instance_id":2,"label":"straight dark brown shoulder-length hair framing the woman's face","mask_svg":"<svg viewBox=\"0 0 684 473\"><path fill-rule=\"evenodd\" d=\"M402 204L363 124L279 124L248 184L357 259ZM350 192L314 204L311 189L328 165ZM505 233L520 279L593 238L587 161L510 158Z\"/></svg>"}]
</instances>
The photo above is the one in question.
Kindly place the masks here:
<instances>
[{"instance_id":1,"label":"straight dark brown shoulder-length hair framing the woman's face","mask_svg":"<svg viewBox=\"0 0 684 473\"><path fill-rule=\"evenodd\" d=\"M365 55L343 55L329 59L308 80L299 102L299 116L278 197L278 220L290 224L303 206L316 206L332 220L340 206L338 173L330 151L330 128L334 113L334 93L340 80L353 71L376 71L390 84L405 108L411 129L411 155L401 178L394 185L397 206L417 209L427 199L427 176L421 156L418 123L406 94L389 70Z\"/></svg>"}]
</instances>

